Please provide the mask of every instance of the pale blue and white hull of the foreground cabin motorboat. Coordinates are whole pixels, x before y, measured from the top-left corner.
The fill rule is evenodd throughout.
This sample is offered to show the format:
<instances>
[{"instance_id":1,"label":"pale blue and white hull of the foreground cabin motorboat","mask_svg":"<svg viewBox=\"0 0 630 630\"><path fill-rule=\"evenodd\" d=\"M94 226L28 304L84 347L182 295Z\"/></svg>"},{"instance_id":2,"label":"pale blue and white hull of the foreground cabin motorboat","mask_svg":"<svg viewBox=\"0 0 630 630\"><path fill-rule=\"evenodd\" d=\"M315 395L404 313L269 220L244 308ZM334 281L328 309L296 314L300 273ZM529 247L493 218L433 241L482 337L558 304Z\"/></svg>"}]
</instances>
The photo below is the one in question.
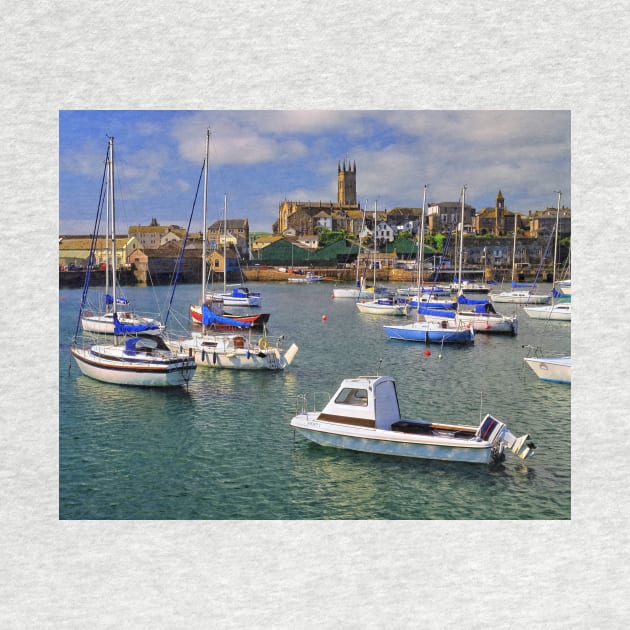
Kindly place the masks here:
<instances>
[{"instance_id":1,"label":"pale blue and white hull of the foreground cabin motorboat","mask_svg":"<svg viewBox=\"0 0 630 630\"><path fill-rule=\"evenodd\" d=\"M461 440L460 444L454 445L453 440L448 438L429 438L349 425L336 426L331 430L327 424L329 423L318 422L313 414L301 414L291 420L292 427L320 446L378 455L474 464L488 464L492 456L488 443L474 440Z\"/></svg>"}]
</instances>

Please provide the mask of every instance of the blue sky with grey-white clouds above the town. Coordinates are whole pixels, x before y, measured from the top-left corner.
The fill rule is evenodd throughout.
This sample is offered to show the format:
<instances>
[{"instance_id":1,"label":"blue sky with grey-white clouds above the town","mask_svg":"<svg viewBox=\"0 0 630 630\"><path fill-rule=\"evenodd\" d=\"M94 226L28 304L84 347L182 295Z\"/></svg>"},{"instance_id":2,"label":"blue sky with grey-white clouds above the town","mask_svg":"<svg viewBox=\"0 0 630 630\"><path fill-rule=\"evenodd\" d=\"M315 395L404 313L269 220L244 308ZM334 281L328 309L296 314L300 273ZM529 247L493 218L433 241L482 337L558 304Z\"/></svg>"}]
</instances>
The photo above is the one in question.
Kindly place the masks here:
<instances>
[{"instance_id":1,"label":"blue sky with grey-white clouds above the town","mask_svg":"<svg viewBox=\"0 0 630 630\"><path fill-rule=\"evenodd\" d=\"M508 210L571 207L568 110L63 110L59 232L90 234L108 136L117 233L130 225L202 227L195 193L210 129L208 223L247 218L271 232L278 206L337 201L338 164L356 164L357 200L379 210L458 201Z\"/></svg>"}]
</instances>

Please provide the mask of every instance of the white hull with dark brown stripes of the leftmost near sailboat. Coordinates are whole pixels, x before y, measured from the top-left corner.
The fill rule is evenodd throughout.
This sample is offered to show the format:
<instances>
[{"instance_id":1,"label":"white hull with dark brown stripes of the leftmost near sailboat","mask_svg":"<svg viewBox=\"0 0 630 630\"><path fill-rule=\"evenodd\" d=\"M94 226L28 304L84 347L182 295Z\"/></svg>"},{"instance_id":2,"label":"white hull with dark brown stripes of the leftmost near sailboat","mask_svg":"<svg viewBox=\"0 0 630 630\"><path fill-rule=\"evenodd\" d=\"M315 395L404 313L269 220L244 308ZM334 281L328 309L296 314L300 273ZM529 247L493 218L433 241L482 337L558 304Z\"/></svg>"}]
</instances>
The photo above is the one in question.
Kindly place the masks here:
<instances>
[{"instance_id":1,"label":"white hull with dark brown stripes of the leftmost near sailboat","mask_svg":"<svg viewBox=\"0 0 630 630\"><path fill-rule=\"evenodd\" d=\"M82 374L113 385L185 386L193 377L197 367L193 359L183 356L150 360L143 357L125 358L121 353L108 358L103 356L102 352L106 349L106 346L73 346L70 351Z\"/></svg>"}]
</instances>

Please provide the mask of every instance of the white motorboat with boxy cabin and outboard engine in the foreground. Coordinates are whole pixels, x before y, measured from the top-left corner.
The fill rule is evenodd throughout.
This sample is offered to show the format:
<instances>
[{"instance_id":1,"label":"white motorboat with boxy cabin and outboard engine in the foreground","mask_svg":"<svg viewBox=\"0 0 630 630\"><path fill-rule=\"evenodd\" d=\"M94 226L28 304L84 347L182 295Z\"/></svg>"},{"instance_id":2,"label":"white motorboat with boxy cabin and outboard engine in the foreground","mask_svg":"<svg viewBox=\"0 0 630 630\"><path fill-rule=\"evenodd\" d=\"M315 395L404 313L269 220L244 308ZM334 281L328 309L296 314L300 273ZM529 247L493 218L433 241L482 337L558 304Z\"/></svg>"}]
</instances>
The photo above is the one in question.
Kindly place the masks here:
<instances>
[{"instance_id":1,"label":"white motorboat with boxy cabin and outboard engine in the foreground","mask_svg":"<svg viewBox=\"0 0 630 630\"><path fill-rule=\"evenodd\" d=\"M528 435L517 438L490 414L479 426L401 418L390 376L345 379L321 411L307 410L308 396L299 401L291 426L322 446L478 464L501 462L507 451L526 459L536 448Z\"/></svg>"}]
</instances>

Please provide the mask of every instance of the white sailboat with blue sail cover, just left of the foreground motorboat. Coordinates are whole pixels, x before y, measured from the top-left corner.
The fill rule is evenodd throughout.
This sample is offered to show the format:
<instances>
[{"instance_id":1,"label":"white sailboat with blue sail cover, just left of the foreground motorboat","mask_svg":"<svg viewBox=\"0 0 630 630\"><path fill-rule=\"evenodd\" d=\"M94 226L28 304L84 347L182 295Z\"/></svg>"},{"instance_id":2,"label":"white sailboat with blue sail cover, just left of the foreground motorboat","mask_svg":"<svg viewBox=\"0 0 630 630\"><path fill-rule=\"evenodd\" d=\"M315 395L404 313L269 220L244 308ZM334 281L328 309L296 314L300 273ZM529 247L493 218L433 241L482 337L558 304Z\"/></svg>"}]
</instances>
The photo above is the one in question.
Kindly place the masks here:
<instances>
[{"instance_id":1,"label":"white sailboat with blue sail cover, just left of the foreground motorboat","mask_svg":"<svg viewBox=\"0 0 630 630\"><path fill-rule=\"evenodd\" d=\"M269 342L266 331L257 339L252 340L252 322L238 321L217 314L209 305L209 300L223 303L223 296L206 294L206 219L208 207L208 160L209 160L210 131L206 136L206 160L204 163L204 194L203 194L203 244L202 244L202 282L201 282L201 332L192 332L190 336L173 338L169 347L179 352L186 352L195 357L197 364L204 367L231 368L239 370L283 370L289 366L298 347L292 344L284 352L280 348L283 337L279 337L275 344ZM191 307L192 310L193 307ZM210 333L213 327L240 328L239 332ZM247 331L247 334L246 332Z\"/></svg>"}]
</instances>

